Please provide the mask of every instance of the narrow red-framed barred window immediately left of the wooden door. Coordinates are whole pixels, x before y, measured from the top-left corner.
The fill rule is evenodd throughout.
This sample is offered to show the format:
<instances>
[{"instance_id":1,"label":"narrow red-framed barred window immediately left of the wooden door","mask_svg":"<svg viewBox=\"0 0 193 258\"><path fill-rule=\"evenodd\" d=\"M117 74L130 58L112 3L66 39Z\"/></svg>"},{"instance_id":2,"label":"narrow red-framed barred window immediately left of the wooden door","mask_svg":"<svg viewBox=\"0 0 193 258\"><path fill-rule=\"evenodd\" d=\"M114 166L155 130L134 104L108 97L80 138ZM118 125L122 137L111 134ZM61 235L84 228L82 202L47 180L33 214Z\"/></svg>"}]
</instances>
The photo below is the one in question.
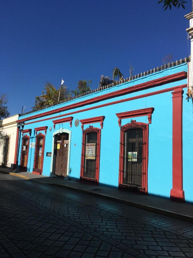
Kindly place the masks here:
<instances>
[{"instance_id":1,"label":"narrow red-framed barred window immediately left of the wooden door","mask_svg":"<svg viewBox=\"0 0 193 258\"><path fill-rule=\"evenodd\" d=\"M44 144L45 144L45 135L41 133L37 134L36 141L35 141L33 172L38 174L42 173Z\"/></svg>"}]
</instances>

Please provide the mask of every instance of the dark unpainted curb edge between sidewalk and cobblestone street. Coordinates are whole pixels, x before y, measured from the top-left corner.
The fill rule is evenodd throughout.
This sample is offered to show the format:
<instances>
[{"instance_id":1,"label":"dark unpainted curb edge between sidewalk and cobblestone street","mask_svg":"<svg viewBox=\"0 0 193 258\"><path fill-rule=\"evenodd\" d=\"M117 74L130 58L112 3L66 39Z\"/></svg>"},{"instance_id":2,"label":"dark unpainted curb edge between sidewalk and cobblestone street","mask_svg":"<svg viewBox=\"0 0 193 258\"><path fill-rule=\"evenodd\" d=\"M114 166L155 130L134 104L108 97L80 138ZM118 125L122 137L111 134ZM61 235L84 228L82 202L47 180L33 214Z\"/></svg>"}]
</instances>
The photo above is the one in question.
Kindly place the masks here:
<instances>
[{"instance_id":1,"label":"dark unpainted curb edge between sidewalk and cobblestone street","mask_svg":"<svg viewBox=\"0 0 193 258\"><path fill-rule=\"evenodd\" d=\"M47 185L54 185L54 186L57 186L57 187L62 187L62 188L65 188L65 189L85 193L85 194L92 195L92 196L101 197L101 198L104 198L104 199L107 199L107 200L111 200L111 201L118 202L118 203L123 203L123 204L129 205L129 206L133 206L135 208L139 208L139 209L142 209L142 210L147 210L147 211L154 212L154 213L161 214L161 215L165 215L165 216L168 216L168 217L171 217L171 218L184 220L184 221L187 221L187 222L193 222L193 217L188 216L188 215L184 215L184 214L181 214L181 213L175 213L175 212L172 212L172 211L169 211L169 210L164 210L164 209L156 208L156 207L153 207L153 206L149 206L149 205L145 205L145 204L141 204L141 203L137 203L137 202L131 202L131 201L127 201L127 200L124 200L124 199L112 197L112 196L109 196L109 195L106 195L106 194L103 194L103 193L91 192L91 191L79 189L77 187L73 187L73 186L69 186L69 185L62 185L62 184L58 184L58 183L45 183L45 182L42 182L42 181L39 181L39 180L36 180L36 179L30 179L30 180L33 180L33 181L38 182L38 183L44 183L44 184L47 184Z\"/></svg>"}]
</instances>

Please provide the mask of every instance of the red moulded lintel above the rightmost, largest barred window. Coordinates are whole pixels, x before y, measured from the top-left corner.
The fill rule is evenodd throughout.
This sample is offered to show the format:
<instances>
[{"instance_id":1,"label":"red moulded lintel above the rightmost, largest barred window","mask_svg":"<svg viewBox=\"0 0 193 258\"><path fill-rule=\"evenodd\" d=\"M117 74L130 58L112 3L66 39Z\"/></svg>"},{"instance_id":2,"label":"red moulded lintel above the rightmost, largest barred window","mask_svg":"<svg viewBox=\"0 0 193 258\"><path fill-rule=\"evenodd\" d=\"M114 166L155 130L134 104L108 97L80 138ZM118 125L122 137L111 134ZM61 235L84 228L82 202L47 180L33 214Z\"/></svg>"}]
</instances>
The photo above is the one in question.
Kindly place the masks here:
<instances>
[{"instance_id":1,"label":"red moulded lintel above the rightmost, largest barred window","mask_svg":"<svg viewBox=\"0 0 193 258\"><path fill-rule=\"evenodd\" d=\"M137 117L137 116L148 116L149 124L151 124L153 112L154 112L154 107L148 107L148 108L143 108L143 109L138 109L138 110L117 113L116 116L119 118L119 120L118 120L119 126L121 126L122 119Z\"/></svg>"}]
</instances>

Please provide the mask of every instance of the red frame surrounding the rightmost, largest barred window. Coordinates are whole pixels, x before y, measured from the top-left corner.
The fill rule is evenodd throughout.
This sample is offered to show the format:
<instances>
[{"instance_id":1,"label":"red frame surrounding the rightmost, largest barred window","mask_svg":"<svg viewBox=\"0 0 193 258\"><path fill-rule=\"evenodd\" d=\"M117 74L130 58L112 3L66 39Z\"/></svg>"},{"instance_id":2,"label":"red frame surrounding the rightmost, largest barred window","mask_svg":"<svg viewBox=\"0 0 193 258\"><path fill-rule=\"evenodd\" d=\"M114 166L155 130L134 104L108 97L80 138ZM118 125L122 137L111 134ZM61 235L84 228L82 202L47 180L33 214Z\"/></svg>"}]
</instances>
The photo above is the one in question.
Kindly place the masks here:
<instances>
[{"instance_id":1,"label":"red frame surrounding the rightmost, largest barred window","mask_svg":"<svg viewBox=\"0 0 193 258\"><path fill-rule=\"evenodd\" d=\"M138 124L140 125L146 125L146 130L143 132L143 155L146 153L146 157L143 157L142 161L142 188L145 189L145 193L148 193L148 142L149 142L149 124L142 123L142 122L136 122L136 120L132 120L131 123L125 124L122 126L122 128L128 128L129 124ZM120 155L119 155L119 187L123 187L123 156L124 156L124 130L120 129ZM144 144L146 142L146 144Z\"/></svg>"}]
</instances>

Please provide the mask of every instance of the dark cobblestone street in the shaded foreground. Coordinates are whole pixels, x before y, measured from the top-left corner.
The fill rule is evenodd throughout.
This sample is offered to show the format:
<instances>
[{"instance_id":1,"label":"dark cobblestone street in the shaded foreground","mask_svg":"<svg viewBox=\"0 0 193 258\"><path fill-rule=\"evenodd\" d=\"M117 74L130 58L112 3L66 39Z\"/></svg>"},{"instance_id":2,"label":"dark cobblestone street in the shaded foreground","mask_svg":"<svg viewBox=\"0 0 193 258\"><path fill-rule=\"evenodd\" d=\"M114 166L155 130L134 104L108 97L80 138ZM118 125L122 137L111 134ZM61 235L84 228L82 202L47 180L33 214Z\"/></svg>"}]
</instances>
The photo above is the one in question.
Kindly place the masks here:
<instances>
[{"instance_id":1,"label":"dark cobblestone street in the shaded foreground","mask_svg":"<svg viewBox=\"0 0 193 258\"><path fill-rule=\"evenodd\" d=\"M193 257L189 222L3 173L0 186L0 258Z\"/></svg>"}]
</instances>

